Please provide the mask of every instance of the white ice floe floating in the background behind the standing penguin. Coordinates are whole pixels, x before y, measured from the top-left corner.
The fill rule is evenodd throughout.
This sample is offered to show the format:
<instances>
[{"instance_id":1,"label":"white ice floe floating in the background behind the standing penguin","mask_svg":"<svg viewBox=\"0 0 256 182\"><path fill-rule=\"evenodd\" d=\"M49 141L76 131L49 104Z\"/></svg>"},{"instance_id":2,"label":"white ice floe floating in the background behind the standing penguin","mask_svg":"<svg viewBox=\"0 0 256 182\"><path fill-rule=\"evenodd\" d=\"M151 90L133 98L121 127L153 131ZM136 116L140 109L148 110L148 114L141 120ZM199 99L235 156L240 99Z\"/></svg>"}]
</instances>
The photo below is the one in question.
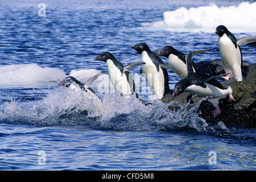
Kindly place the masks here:
<instances>
[{"instance_id":1,"label":"white ice floe floating in the background behind the standing penguin","mask_svg":"<svg viewBox=\"0 0 256 182\"><path fill-rule=\"evenodd\" d=\"M142 26L170 31L214 32L218 25L223 24L232 32L255 32L255 10L256 2L242 2L237 7L218 7L215 3L189 9L181 7L164 12L162 21L142 23Z\"/></svg>"}]
</instances>

